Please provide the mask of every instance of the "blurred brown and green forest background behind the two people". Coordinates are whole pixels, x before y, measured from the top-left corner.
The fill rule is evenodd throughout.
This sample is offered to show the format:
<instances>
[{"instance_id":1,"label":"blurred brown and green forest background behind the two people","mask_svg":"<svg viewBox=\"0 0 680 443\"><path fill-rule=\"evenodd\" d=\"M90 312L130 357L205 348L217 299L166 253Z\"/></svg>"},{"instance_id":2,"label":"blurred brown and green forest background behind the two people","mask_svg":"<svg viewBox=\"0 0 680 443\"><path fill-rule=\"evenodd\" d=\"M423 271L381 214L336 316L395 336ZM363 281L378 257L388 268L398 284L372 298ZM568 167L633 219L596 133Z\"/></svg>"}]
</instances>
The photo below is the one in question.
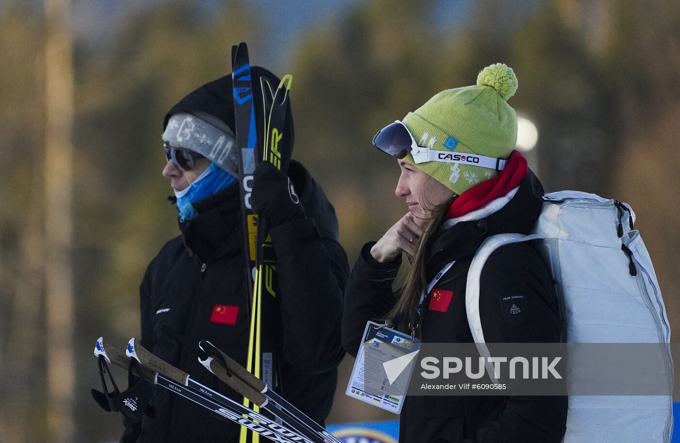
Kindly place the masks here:
<instances>
[{"instance_id":1,"label":"blurred brown and green forest background behind the two people","mask_svg":"<svg viewBox=\"0 0 680 443\"><path fill-rule=\"evenodd\" d=\"M677 1L4 0L0 442L120 436L90 398L92 348L139 333L141 276L178 233L163 115L228 73L241 41L294 76L294 158L335 205L350 264L406 211L377 129L507 63L547 191L632 205L678 336ZM328 422L393 419L343 395L352 363Z\"/></svg>"}]
</instances>

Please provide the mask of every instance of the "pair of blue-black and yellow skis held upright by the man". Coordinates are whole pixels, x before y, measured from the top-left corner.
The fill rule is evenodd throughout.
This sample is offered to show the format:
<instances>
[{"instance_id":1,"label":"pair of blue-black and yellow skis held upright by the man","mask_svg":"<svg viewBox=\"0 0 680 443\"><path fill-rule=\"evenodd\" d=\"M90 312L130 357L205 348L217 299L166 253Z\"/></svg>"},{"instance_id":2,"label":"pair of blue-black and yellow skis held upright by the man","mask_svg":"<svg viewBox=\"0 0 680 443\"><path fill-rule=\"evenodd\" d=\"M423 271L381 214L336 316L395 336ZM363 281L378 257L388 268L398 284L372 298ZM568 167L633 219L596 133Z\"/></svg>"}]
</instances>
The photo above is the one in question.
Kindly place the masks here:
<instances>
[{"instance_id":1,"label":"pair of blue-black and yellow skis held upright by the man","mask_svg":"<svg viewBox=\"0 0 680 443\"><path fill-rule=\"evenodd\" d=\"M245 43L232 48L233 95L239 157L239 189L243 219L245 269L250 297L250 334L246 369L262 378L270 389L279 387L279 366L282 350L280 331L280 301L277 297L276 258L265 220L253 214L250 206L252 174L260 161L269 161L282 171L288 169L292 140L286 134L288 93L292 76L274 89L269 79L252 78L248 47ZM262 90L262 128L258 131L256 103L252 82L260 82ZM259 103L258 103L259 104ZM258 144L260 142L260 144ZM288 148L288 149L285 149ZM265 325L263 328L262 326ZM243 399L250 407L250 401ZM252 405L257 410L256 405ZM241 428L239 443L258 442L259 436L246 427Z\"/></svg>"}]
</instances>

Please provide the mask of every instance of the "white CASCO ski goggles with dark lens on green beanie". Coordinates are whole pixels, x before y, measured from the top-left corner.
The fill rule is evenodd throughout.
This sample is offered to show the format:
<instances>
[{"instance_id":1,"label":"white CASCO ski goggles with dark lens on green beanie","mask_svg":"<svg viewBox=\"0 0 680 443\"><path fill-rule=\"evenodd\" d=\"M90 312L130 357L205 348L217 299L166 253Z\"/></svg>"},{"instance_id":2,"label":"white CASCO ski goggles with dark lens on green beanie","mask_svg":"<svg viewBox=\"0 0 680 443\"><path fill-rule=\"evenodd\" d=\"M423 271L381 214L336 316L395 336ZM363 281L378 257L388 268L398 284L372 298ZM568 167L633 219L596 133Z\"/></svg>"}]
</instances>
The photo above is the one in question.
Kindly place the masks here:
<instances>
[{"instance_id":1,"label":"white CASCO ski goggles with dark lens on green beanie","mask_svg":"<svg viewBox=\"0 0 680 443\"><path fill-rule=\"evenodd\" d=\"M378 131L373 137L373 146L397 159L403 159L407 154L411 154L416 164L439 161L441 163L481 166L501 171L507 163L507 160L484 155L446 152L418 146L411 131L400 120L394 120L394 123Z\"/></svg>"}]
</instances>

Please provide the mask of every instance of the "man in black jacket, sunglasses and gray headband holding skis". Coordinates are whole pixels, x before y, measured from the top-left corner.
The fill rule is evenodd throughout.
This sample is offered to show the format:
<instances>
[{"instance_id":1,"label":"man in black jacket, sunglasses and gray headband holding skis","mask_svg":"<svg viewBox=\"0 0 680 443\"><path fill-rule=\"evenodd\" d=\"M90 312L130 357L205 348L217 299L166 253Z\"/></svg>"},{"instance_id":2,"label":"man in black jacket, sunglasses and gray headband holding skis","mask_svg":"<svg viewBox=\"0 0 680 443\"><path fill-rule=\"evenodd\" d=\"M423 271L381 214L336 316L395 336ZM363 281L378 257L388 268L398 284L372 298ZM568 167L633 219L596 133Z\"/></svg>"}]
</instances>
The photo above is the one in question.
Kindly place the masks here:
<instances>
[{"instance_id":1,"label":"man in black jacket, sunglasses and gray headband holding skis","mask_svg":"<svg viewBox=\"0 0 680 443\"><path fill-rule=\"evenodd\" d=\"M259 67L252 67L252 76L255 97L261 97L260 76L279 83ZM262 105L257 100L254 104L259 117ZM261 124L258 119L258 128ZM250 301L234 177L237 163L229 153L230 148L236 151L231 75L184 97L167 113L163 126L168 159L163 175L175 192L181 235L163 246L141 282L141 344L211 386L214 380L197 356L162 327L168 325L190 343L209 340L245 366ZM286 133L292 137L290 118ZM340 323L349 272L335 210L296 161L290 162L287 175L260 163L251 202L269 220L276 255L282 327L273 333L282 337L279 393L323 423L344 355ZM243 398L233 391L224 393L236 401ZM169 391L155 389L153 406L153 419L144 416L141 425L126 423L122 442L239 439L239 426Z\"/></svg>"}]
</instances>

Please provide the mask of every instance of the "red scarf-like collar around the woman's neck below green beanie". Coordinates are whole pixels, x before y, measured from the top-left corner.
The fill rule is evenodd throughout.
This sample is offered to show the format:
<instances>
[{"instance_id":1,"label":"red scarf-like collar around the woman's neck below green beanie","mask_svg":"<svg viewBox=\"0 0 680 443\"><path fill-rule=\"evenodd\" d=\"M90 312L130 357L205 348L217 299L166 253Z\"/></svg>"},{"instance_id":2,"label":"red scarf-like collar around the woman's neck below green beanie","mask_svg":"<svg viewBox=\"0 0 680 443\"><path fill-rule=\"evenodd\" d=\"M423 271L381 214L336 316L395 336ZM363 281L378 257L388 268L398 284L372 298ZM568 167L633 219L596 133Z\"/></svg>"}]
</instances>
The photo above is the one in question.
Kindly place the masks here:
<instances>
[{"instance_id":1,"label":"red scarf-like collar around the woman's neck below green beanie","mask_svg":"<svg viewBox=\"0 0 680 443\"><path fill-rule=\"evenodd\" d=\"M464 216L505 196L519 186L528 173L529 167L526 159L520 151L513 150L503 171L500 171L494 178L469 188L454 200L446 213L446 219Z\"/></svg>"}]
</instances>

